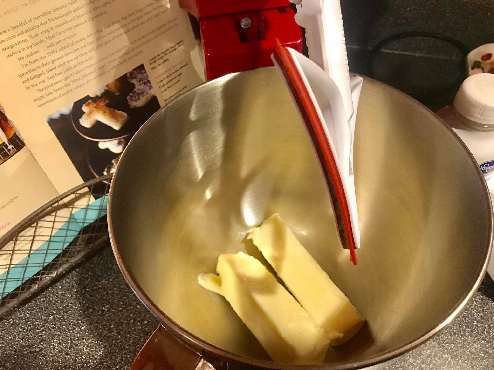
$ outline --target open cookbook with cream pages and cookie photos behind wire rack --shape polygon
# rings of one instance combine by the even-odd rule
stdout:
[[[0,237],[59,194],[112,173],[139,127],[204,81],[178,0],[3,0],[0,56]],[[64,204],[51,221],[77,221],[81,208]],[[0,282],[25,258],[0,250]]]

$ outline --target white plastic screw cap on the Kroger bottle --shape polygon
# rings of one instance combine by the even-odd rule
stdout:
[[[471,121],[494,125],[494,74],[468,76],[454,97],[453,107]]]

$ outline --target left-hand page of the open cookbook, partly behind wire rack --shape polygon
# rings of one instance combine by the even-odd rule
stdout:
[[[0,237],[58,195],[58,191],[25,146],[8,113],[0,104]],[[32,228],[28,228],[18,235],[15,248],[12,242],[0,249],[0,298],[15,289],[20,284],[19,278],[22,280],[22,275],[28,272],[26,263],[21,261],[26,260],[48,239],[42,235],[49,234],[48,227],[53,224],[50,221],[63,224],[70,217],[71,213],[64,204],[58,207],[57,214],[47,213],[40,218],[36,225],[39,238],[33,240],[32,237],[27,237],[34,233]],[[79,225],[79,222],[75,224]],[[10,268],[12,266],[17,270],[15,267]],[[34,273],[40,268],[38,265]]]

